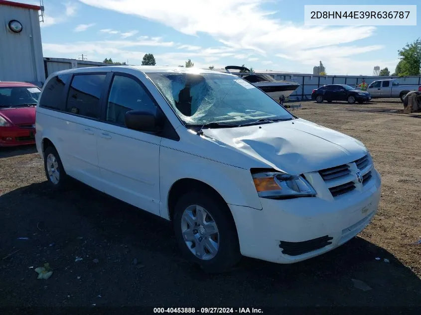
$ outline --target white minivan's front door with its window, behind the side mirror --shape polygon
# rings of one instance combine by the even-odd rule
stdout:
[[[104,192],[159,215],[159,145],[161,137],[125,125],[129,110],[156,112],[157,105],[141,81],[114,74],[98,136]]]

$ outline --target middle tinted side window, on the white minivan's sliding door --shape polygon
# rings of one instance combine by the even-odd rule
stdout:
[[[70,85],[66,111],[99,119],[105,77],[105,74],[75,75]]]

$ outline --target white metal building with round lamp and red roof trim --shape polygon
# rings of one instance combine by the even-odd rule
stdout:
[[[0,0],[0,81],[45,81],[40,10],[38,5]]]

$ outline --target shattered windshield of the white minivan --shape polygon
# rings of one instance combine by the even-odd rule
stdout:
[[[186,124],[243,124],[261,118],[293,118],[260,89],[236,76],[213,73],[147,76]]]

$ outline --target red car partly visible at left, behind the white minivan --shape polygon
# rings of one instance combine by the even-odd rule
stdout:
[[[0,147],[35,143],[35,105],[41,90],[0,81]]]

